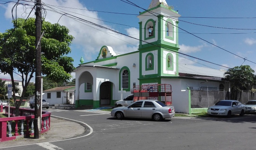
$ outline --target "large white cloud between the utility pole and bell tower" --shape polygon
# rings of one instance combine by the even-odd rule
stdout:
[[[58,11],[58,12],[62,11],[61,12],[62,14],[69,13],[73,16],[77,16],[79,18],[90,21],[97,25],[117,31],[113,29],[111,26],[106,25],[104,21],[101,21],[101,18],[98,16],[97,12],[85,11],[87,10],[86,6],[83,6],[79,2],[79,0],[72,0],[72,1],[44,0],[44,3],[47,6],[50,6],[50,5],[62,6],[61,9],[58,9],[54,6],[50,6],[54,9],[54,11]],[[33,3],[30,3],[30,4],[33,5]],[[122,52],[127,53],[127,52],[132,52],[138,49],[139,40],[135,40],[135,39],[132,39],[131,37],[120,35],[115,32],[109,31],[107,29],[103,29],[82,21],[79,21],[79,22],[75,21],[68,17],[68,16],[71,17],[71,15],[62,16],[62,14],[53,12],[53,10],[47,6],[44,6],[44,8],[47,9],[46,10],[47,15],[45,17],[45,20],[51,22],[52,24],[57,23],[59,20],[58,23],[60,25],[68,27],[68,29],[70,30],[70,34],[75,37],[75,39],[72,42],[72,46],[74,47],[74,49],[72,49],[72,52],[70,54],[71,57],[72,56],[78,57],[77,55],[81,55],[84,58],[85,62],[95,60],[96,59],[94,58],[95,55],[99,53],[100,48],[103,45],[108,45],[113,47],[114,51],[117,53],[122,53]],[[10,13],[12,7],[13,7],[13,4],[9,4],[8,7],[6,8],[6,12],[5,12],[6,18],[12,17]],[[76,9],[69,9],[67,7],[76,8]],[[27,13],[29,13],[29,11],[30,10],[27,9]],[[19,16],[17,17],[24,17],[24,18],[27,17],[25,16],[22,5],[18,5],[17,14],[19,14]],[[31,14],[34,14],[34,13],[31,13]],[[125,31],[127,33],[124,33],[124,34],[128,34],[128,35],[131,35],[132,37],[139,39],[138,29],[127,28],[125,29]],[[134,45],[136,45],[137,47]],[[77,60],[75,60],[75,62],[77,62]]]

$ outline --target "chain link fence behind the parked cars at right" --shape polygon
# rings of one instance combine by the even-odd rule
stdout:
[[[191,90],[191,108],[208,108],[220,100],[230,100],[230,92],[218,91],[216,89]],[[237,100],[242,104],[250,100],[256,100],[256,93],[242,91],[237,93]]]

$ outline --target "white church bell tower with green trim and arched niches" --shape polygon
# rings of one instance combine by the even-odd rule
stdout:
[[[152,78],[178,76],[180,16],[165,0],[152,0],[148,10],[140,12],[138,18],[141,84]]]

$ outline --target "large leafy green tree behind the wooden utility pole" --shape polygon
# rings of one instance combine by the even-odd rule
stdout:
[[[12,87],[15,87],[14,73],[22,78],[23,92],[20,101],[16,101],[13,95],[18,113],[17,110],[35,72],[35,19],[18,18],[13,24],[14,29],[0,33],[0,70],[11,76]],[[41,51],[44,53],[41,56],[42,75],[54,81],[71,79],[70,73],[75,69],[72,63],[74,60],[66,55],[71,52],[69,46],[74,37],[68,34],[67,27],[46,21],[42,21],[42,31],[44,31],[41,39]]]

